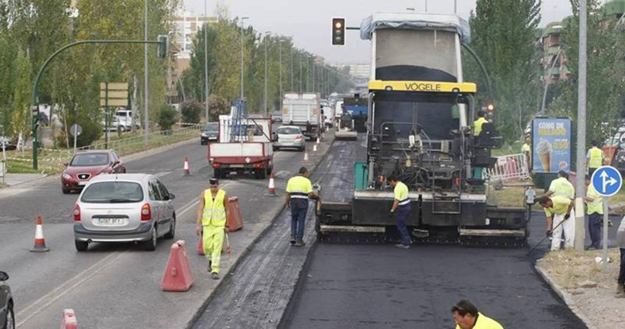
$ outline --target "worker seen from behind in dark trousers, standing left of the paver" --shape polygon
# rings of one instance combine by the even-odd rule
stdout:
[[[308,212],[308,198],[317,198],[312,191],[306,167],[299,168],[299,175],[291,177],[286,184],[286,206],[291,208],[291,245],[305,246],[304,226]]]

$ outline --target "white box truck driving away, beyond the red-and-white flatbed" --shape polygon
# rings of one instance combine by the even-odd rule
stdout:
[[[282,99],[282,124],[299,126],[302,134],[317,139],[323,130],[319,93],[285,93]]]

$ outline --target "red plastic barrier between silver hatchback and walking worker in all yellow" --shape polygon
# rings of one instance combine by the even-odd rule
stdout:
[[[178,240],[171,245],[163,274],[163,291],[187,291],[192,283],[193,275],[187,258],[186,243]]]

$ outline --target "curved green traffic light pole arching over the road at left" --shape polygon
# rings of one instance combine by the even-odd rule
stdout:
[[[167,41],[165,41],[167,43]],[[58,54],[63,53],[65,49],[72,48],[73,46],[78,46],[79,44],[88,44],[88,43],[125,43],[125,44],[163,44],[163,41],[151,41],[151,40],[83,40],[76,41],[75,43],[66,44],[65,46],[59,48],[53,54],[50,55],[49,58],[43,63],[37,76],[35,77],[34,82],[32,83],[32,169],[37,170],[37,149],[39,148],[39,142],[37,141],[37,128],[39,126],[39,79],[47,68],[48,64],[56,57]],[[164,44],[165,49],[167,44]]]

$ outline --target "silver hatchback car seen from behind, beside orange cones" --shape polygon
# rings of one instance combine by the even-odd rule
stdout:
[[[76,250],[91,242],[143,243],[156,250],[156,240],[176,233],[176,196],[154,175],[101,175],[89,182],[74,206]]]

